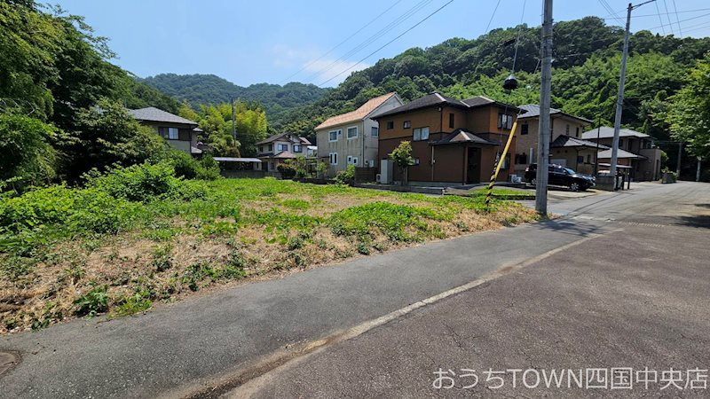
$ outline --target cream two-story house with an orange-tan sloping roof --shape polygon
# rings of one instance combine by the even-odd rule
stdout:
[[[328,118],[316,127],[318,158],[328,164],[327,176],[348,165],[375,168],[380,126],[375,116],[401,106],[397,93],[372,98],[355,111]]]

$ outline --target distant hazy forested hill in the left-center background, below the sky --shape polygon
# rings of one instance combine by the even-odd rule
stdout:
[[[186,99],[192,106],[224,103],[229,98],[256,101],[264,106],[272,123],[279,123],[289,110],[312,104],[327,92],[314,84],[299,82],[284,86],[258,83],[241,87],[214,74],[157,74],[141,82],[177,100]]]

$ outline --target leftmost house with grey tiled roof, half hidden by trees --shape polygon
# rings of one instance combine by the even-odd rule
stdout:
[[[141,124],[155,129],[155,133],[164,138],[173,148],[193,156],[202,153],[197,141],[202,130],[197,127],[196,121],[190,121],[154,106],[132,109],[128,112]]]

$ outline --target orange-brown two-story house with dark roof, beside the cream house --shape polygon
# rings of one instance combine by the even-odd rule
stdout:
[[[375,116],[380,124],[379,160],[402,141],[412,143],[414,184],[487,182],[520,110],[491,98],[459,100],[438,92]],[[509,154],[515,153],[515,139]],[[510,155],[499,180],[508,180]],[[395,170],[395,178],[400,171]]]

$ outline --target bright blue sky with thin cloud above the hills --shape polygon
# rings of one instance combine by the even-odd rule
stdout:
[[[331,78],[325,86],[332,86],[350,74],[340,74],[348,68],[373,65],[377,59],[395,56],[410,47],[485,33],[497,3],[454,0],[382,51],[360,61],[449,0],[54,1],[69,13],[83,15],[97,35],[109,37],[111,49],[118,54],[114,63],[138,76],[217,74],[242,86],[290,81],[319,84]],[[622,25],[627,0],[605,0],[620,20],[612,19],[603,3],[556,0],[554,18],[573,20],[596,15],[608,18],[609,24]],[[491,28],[515,26],[521,16],[530,26],[540,25],[541,4],[541,0],[501,0]],[[408,19],[355,51],[407,12]],[[632,20],[632,31],[710,35],[710,4],[706,0],[658,0],[643,5],[634,15],[638,17]],[[357,35],[324,55],[362,27]]]

